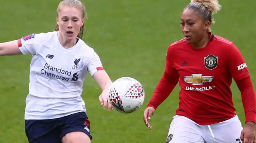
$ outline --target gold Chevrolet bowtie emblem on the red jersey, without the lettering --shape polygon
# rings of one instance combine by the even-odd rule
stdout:
[[[204,82],[212,82],[214,76],[202,76],[202,74],[192,74],[192,76],[184,76],[184,81],[192,83],[192,85],[203,85]]]

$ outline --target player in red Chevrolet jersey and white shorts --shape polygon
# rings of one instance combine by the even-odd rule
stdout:
[[[210,30],[218,0],[192,0],[184,8],[180,26],[184,39],[170,44],[166,69],[144,111],[144,122],[179,82],[179,107],[166,143],[256,143],[255,93],[245,60],[236,46]],[[234,78],[244,105],[241,125],[232,102]]]

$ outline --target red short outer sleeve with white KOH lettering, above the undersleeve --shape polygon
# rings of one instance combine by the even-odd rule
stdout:
[[[228,53],[228,66],[235,81],[250,76],[244,57],[234,44],[231,45],[230,52]]]

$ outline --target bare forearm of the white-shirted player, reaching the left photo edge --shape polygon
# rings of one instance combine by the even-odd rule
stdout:
[[[21,55],[18,40],[0,43],[0,56]]]

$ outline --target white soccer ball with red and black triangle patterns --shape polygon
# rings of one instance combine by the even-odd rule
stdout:
[[[134,78],[121,77],[110,86],[108,101],[121,113],[138,110],[145,98],[143,86]]]

